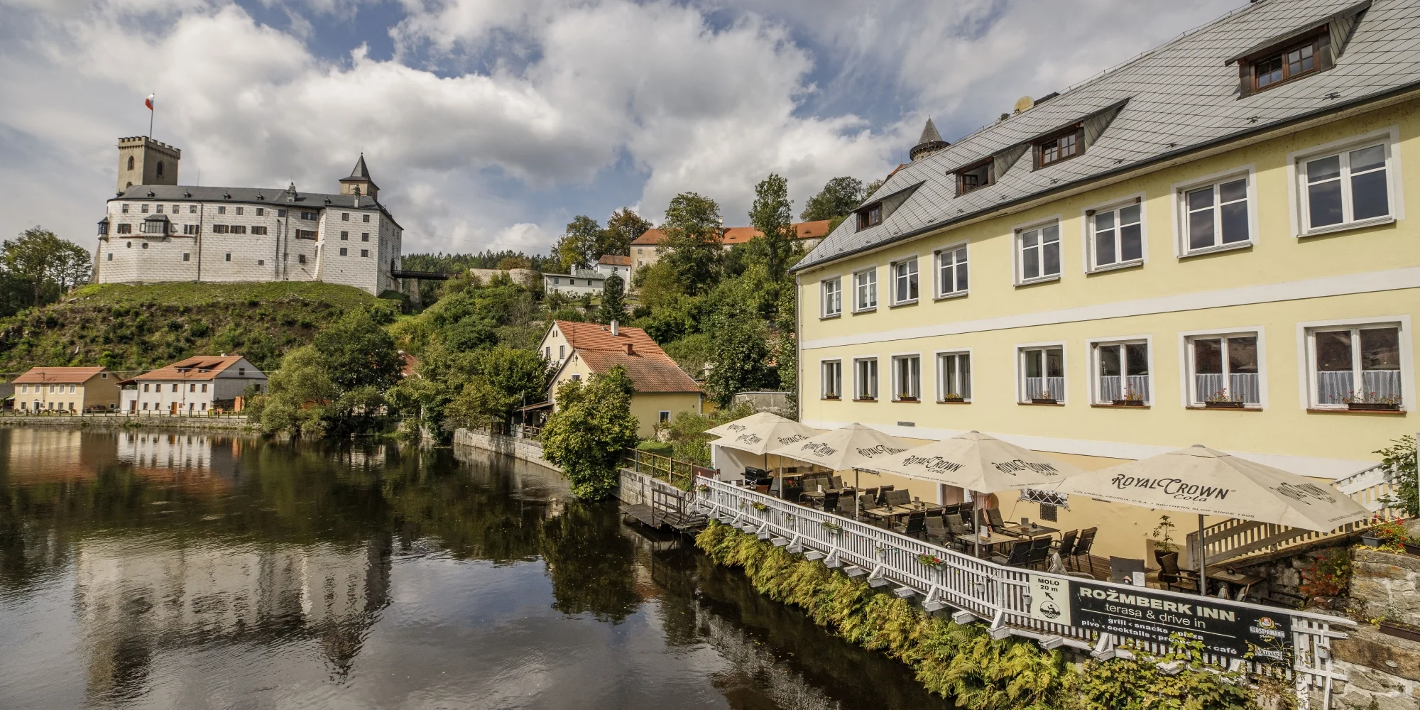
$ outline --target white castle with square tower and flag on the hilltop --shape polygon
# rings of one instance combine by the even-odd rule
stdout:
[[[178,185],[182,151],[118,142],[118,196],[98,223],[94,281],[325,281],[399,290],[402,229],[361,155],[338,195]]]

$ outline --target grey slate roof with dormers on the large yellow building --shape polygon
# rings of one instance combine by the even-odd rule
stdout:
[[[902,166],[876,196],[923,183],[920,189],[882,224],[858,231],[858,220],[843,220],[794,271],[910,239],[1011,202],[1420,87],[1420,3],[1375,0],[1333,68],[1237,98],[1238,67],[1225,64],[1228,60],[1299,28],[1318,27],[1353,7],[1356,0],[1254,3]],[[956,196],[949,170],[1044,138],[1119,102],[1126,104],[1083,155],[1032,172],[1027,153],[998,175],[995,185]]]

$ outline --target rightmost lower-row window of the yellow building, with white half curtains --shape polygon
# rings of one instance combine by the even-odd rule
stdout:
[[[1306,331],[1311,406],[1403,409],[1400,324],[1315,327]]]

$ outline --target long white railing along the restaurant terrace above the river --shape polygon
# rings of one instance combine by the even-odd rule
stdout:
[[[643,452],[645,453],[645,452]],[[728,521],[741,530],[753,530],[763,538],[780,538],[790,551],[814,550],[831,567],[856,565],[869,571],[870,581],[885,579],[923,595],[923,608],[954,606],[971,616],[991,622],[993,633],[1032,638],[1042,645],[1069,645],[1081,649],[1130,646],[1156,656],[1170,649],[1163,645],[1126,640],[1102,635],[1092,629],[1042,622],[1030,615],[1031,575],[1068,579],[1065,575],[1035,572],[998,565],[954,550],[924,542],[889,530],[868,525],[843,515],[797,506],[754,490],[741,488],[706,476],[696,476],[693,501],[709,517]],[[787,541],[787,542],[785,542]],[[941,564],[929,564],[932,558]],[[1135,586],[1092,582],[1133,594]],[[1150,594],[1176,596],[1191,602],[1197,596],[1150,589]],[[1355,622],[1314,612],[1282,609],[1248,602],[1227,602],[1234,606],[1265,611],[1291,618],[1294,666],[1298,689],[1326,687],[1345,680],[1332,669],[1331,639],[1345,638],[1332,625],[1355,626]],[[1267,667],[1245,659],[1210,656],[1218,665],[1241,665],[1252,673],[1267,673]],[[1329,701],[1329,696],[1326,696]],[[1322,706],[1322,703],[1314,707]]]

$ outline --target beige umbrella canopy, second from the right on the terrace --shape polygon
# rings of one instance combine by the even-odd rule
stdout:
[[[879,469],[909,479],[944,483],[981,493],[1054,487],[1082,469],[1003,442],[981,432],[967,432],[889,456]]]

